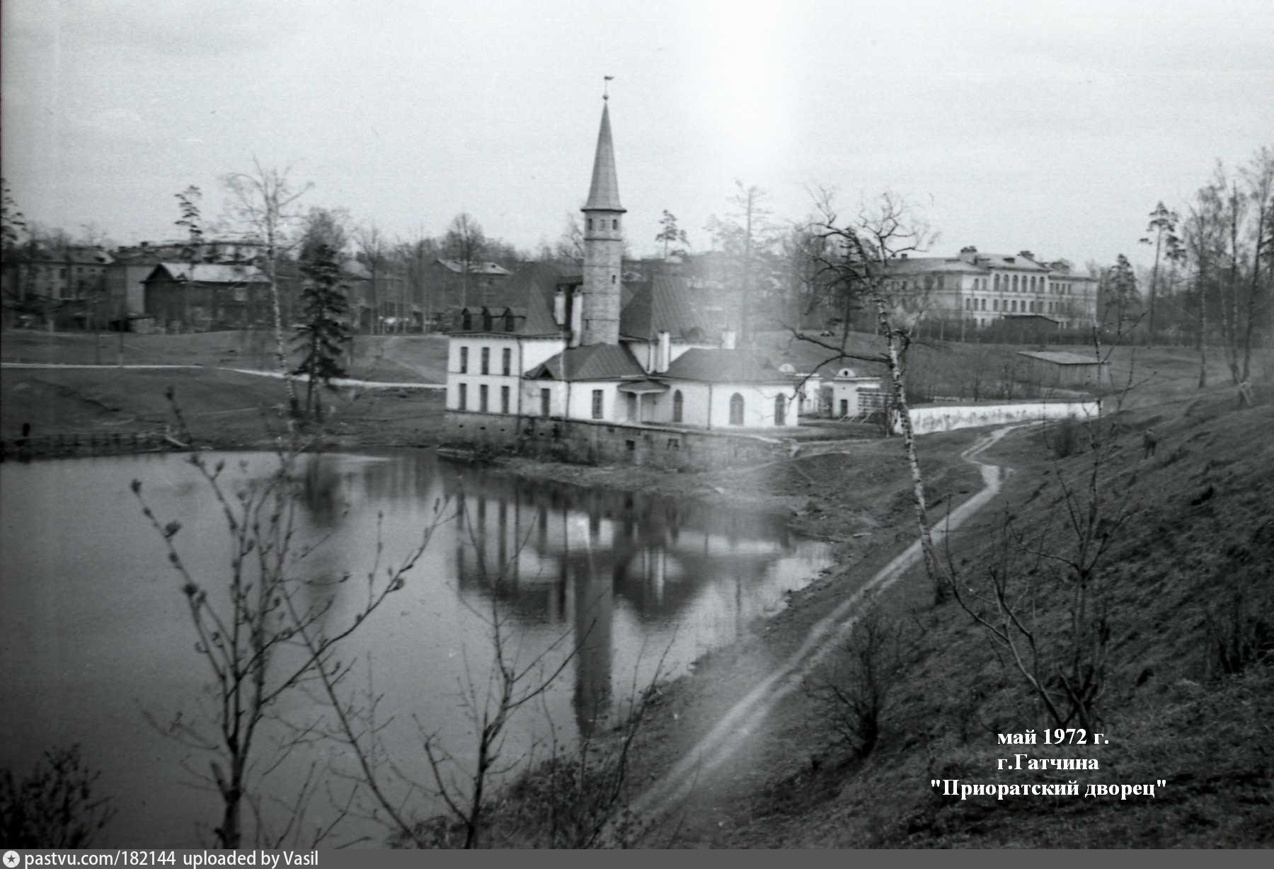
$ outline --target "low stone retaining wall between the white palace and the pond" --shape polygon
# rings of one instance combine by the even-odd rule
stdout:
[[[461,410],[446,413],[441,441],[447,446],[487,447],[554,461],[687,470],[773,461],[786,456],[790,447],[787,441],[757,434]]]

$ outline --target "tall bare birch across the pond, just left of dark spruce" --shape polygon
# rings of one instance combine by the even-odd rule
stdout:
[[[292,167],[266,168],[261,161],[252,158],[251,172],[233,172],[223,177],[222,182],[231,196],[231,209],[248,232],[262,246],[262,261],[265,274],[270,280],[270,305],[274,320],[274,357],[275,366],[283,375],[288,387],[288,405],[294,412],[299,405],[297,400],[297,387],[293,382],[292,368],[288,364],[287,347],[283,338],[283,310],[279,302],[279,260],[287,255],[294,243],[292,237],[293,224],[299,219],[297,201],[304,196],[313,186],[310,182],[296,183],[289,177]],[[252,306],[251,319],[256,320],[255,297],[250,302]]]

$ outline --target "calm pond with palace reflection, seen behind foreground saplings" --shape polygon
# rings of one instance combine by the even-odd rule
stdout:
[[[278,466],[269,454],[204,456],[224,460],[238,480]],[[341,649],[355,661],[348,689],[382,697],[386,756],[422,782],[422,734],[461,762],[471,757],[462,698],[487,684],[493,617],[519,661],[543,655],[552,670],[566,660],[513,719],[506,757],[524,757],[550,735],[568,747],[613,720],[656,672],[685,673],[781,608],[831,556],[777,516],[527,482],[428,451],[307,455],[296,473],[296,536],[315,547],[302,562],[313,594],[334,595],[329,629],[364,600],[378,545],[383,575],[443,516],[405,587]],[[224,517],[185,456],[0,465],[0,766],[25,775],[41,752],[79,743],[117,810],[98,844],[210,844],[219,800],[201,781],[209,756],[175,736],[208,729],[213,686],[178,577],[130,492],[134,479],[161,522],[181,522],[175,542],[191,573],[225,586]],[[336,581],[347,573],[354,578]],[[303,724],[322,711],[293,692],[271,714]],[[271,798],[264,822],[276,830],[307,776],[341,784],[352,766],[340,745],[318,740],[273,767],[287,731],[271,725],[266,734],[257,772]],[[441,807],[418,798],[413,809]],[[324,793],[306,823],[334,812]],[[329,844],[381,837],[375,823],[347,818]]]

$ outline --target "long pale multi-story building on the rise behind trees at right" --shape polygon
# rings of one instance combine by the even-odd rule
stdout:
[[[1056,329],[1087,329],[1097,322],[1097,280],[1069,262],[1045,262],[1031,251],[1015,256],[978,254],[902,256],[891,268],[899,291],[927,296],[926,316],[963,320],[986,327],[1017,317],[1051,320]]]

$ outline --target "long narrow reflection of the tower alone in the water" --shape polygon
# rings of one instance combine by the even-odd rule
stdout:
[[[575,719],[583,736],[591,735],[610,707],[612,619],[614,585],[612,566],[619,559],[606,557],[596,503],[590,505],[587,531],[572,522],[563,511],[566,575],[575,604]],[[578,556],[582,556],[578,557]]]

